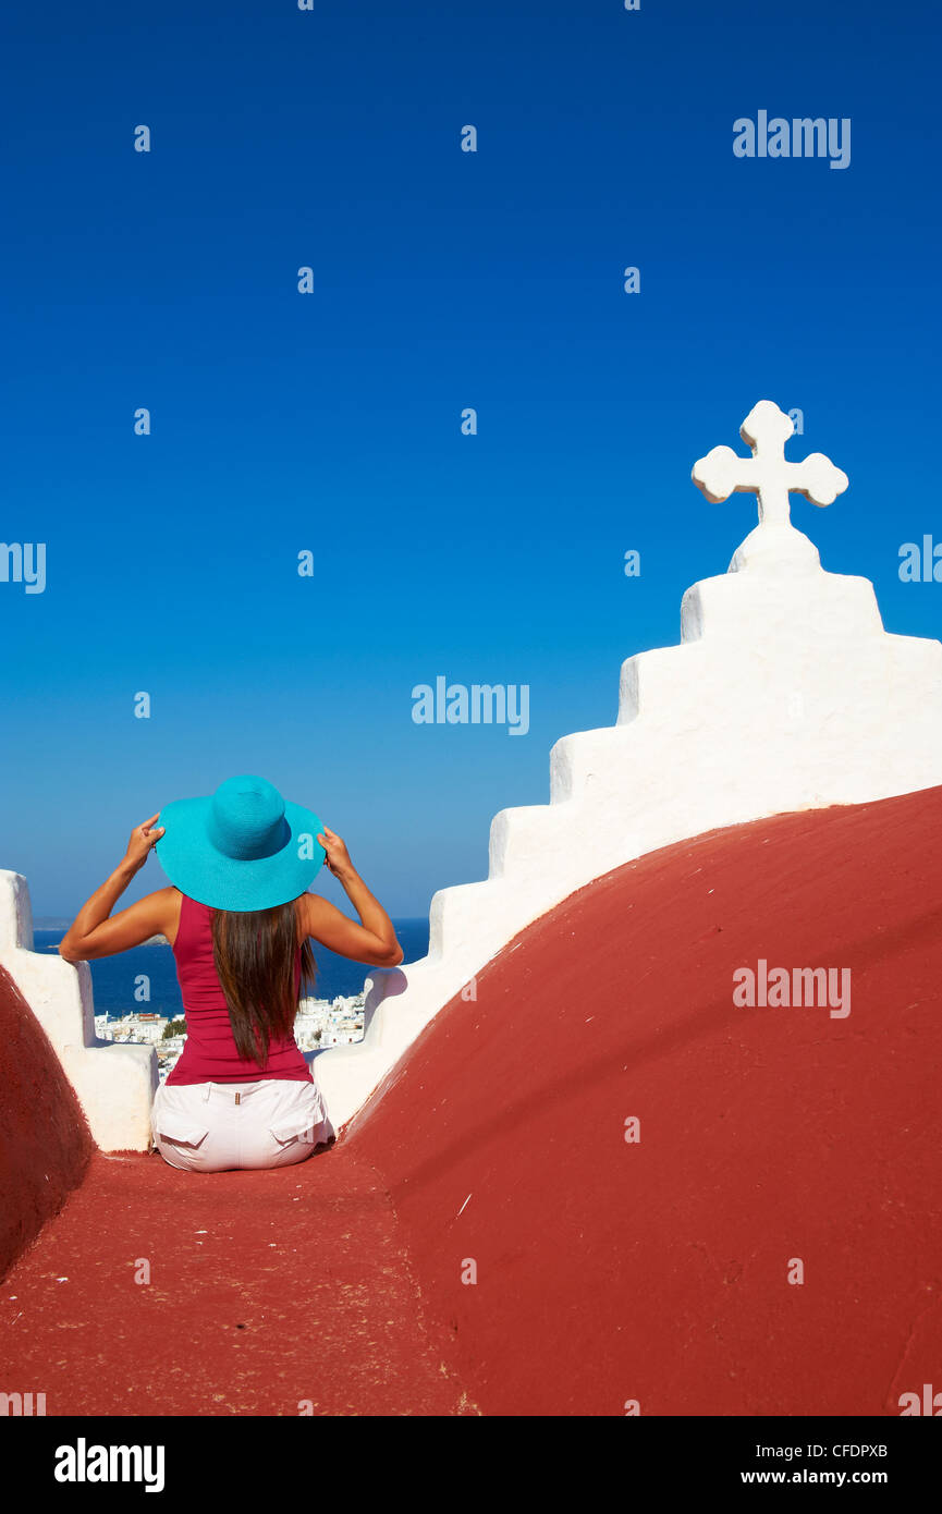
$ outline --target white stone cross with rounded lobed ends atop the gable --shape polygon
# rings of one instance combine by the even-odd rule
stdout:
[[[850,481],[824,453],[810,453],[801,463],[786,462],[784,444],[794,430],[791,416],[772,400],[760,400],[739,427],[753,456],[741,457],[731,447],[713,447],[694,463],[691,477],[713,504],[731,494],[759,495],[759,524],[789,527],[789,491],[825,506],[833,504]]]

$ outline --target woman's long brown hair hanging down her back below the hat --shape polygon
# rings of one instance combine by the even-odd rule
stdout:
[[[315,961],[310,942],[301,945],[301,977],[295,989],[298,952],[295,899],[273,910],[214,910],[212,955],[229,1005],[229,1020],[239,1057],[268,1061],[273,1037],[292,1034],[294,1017],[313,987]]]

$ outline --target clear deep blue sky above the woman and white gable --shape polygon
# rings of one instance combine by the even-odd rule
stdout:
[[[394,914],[485,877],[492,815],[548,799],[754,524],[689,474],[759,398],[850,475],[794,497],[824,565],[939,634],[942,584],[898,580],[942,540],[927,0],[53,0],[5,33],[0,537],[47,587],[0,583],[0,866],[36,914],[238,772]],[[850,167],[735,157],[760,109],[850,118]],[[529,684],[529,734],[413,724],[438,674]]]

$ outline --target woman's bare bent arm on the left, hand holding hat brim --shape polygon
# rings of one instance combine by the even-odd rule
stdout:
[[[158,812],[159,813],[159,812]],[[111,878],[86,899],[76,919],[59,942],[59,955],[67,961],[92,961],[95,957],[112,957],[115,952],[139,946],[150,936],[168,936],[176,930],[179,893],[176,889],[158,889],[138,899],[111,919],[111,911],[124,893],[127,884],[144,866],[151,846],[161,840],[164,827],[150,830],[156,821],[151,815],[144,825],[135,827],[127,851]]]

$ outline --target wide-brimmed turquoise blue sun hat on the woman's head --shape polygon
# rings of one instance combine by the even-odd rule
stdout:
[[[174,799],[158,816],[154,845],[170,881],[214,910],[271,910],[306,893],[327,855],[313,810],[289,804],[253,774],[227,778],[204,799]]]

